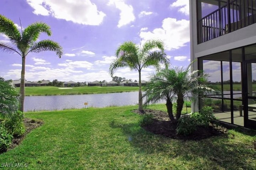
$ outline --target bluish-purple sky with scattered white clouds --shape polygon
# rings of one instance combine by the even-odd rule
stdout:
[[[126,41],[140,44],[148,39],[164,42],[171,66],[190,64],[190,26],[188,0],[1,0],[0,14],[14,21],[21,30],[34,22],[51,27],[49,37],[63,47],[58,58],[54,52],[29,53],[25,79],[62,82],[107,82],[116,58],[116,49]],[[0,41],[9,39],[0,34]],[[0,76],[20,79],[21,57],[0,51]],[[142,70],[142,80],[155,71]],[[120,68],[113,76],[138,81],[138,72]]]

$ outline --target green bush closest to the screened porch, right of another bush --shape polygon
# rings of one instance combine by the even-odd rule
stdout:
[[[208,127],[209,123],[216,119],[212,107],[205,106],[199,112],[191,114],[191,118],[197,126]]]

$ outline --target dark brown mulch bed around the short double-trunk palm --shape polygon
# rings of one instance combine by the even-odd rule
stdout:
[[[144,113],[141,113],[138,110],[134,110],[133,112],[138,114],[152,113],[154,115],[154,122],[151,125],[144,126],[143,128],[154,134],[162,135],[172,139],[201,140],[212,136],[223,135],[228,131],[225,127],[220,125],[210,124],[208,128],[197,127],[197,130],[191,135],[177,135],[177,123],[172,123],[166,112],[152,109],[144,109]]]

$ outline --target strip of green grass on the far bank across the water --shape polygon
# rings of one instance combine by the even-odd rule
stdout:
[[[55,86],[39,86],[39,87],[26,87],[26,96],[48,96],[48,95],[69,95],[69,94],[101,94],[101,93],[115,93],[115,92],[132,92],[138,91],[139,87],[98,87],[98,86],[84,86],[72,87],[72,89],[59,89]],[[16,88],[20,90],[20,88]]]

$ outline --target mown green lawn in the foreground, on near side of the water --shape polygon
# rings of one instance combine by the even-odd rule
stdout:
[[[43,119],[44,125],[28,134],[21,145],[1,154],[0,166],[22,163],[31,170],[256,169],[255,132],[231,130],[228,136],[200,141],[169,139],[142,129],[138,125],[141,115],[132,113],[136,108],[26,113],[26,117]]]

